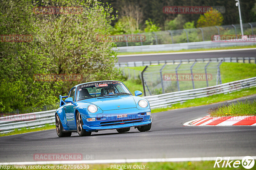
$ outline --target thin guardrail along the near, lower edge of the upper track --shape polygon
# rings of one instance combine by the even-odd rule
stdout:
[[[255,63],[255,57],[225,57],[225,58],[206,58],[206,59],[183,59],[183,60],[159,60],[159,61],[131,61],[131,62],[118,62],[115,67],[138,67],[138,66],[154,66],[164,64],[177,64],[177,63],[192,63],[195,61],[201,62],[236,62],[236,63]]]

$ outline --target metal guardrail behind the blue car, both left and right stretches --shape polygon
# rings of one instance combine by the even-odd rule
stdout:
[[[232,91],[255,86],[256,77],[252,77],[244,80],[232,81],[206,88],[177,91],[155,96],[145,96],[144,98],[148,99],[151,108],[157,108],[166,107],[174,103],[182,103],[189,99],[207,97],[221,93],[229,93]],[[29,115],[33,115],[31,117],[32,120],[26,119],[25,121],[20,121],[19,117],[26,117],[26,115],[28,117]],[[34,127],[52,123],[55,123],[55,110],[0,117],[0,133],[4,133],[5,131],[11,131],[13,129]]]

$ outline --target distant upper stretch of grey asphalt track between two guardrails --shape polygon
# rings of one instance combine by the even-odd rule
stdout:
[[[223,51],[209,53],[180,53],[180,54],[158,54],[158,55],[143,55],[143,56],[125,56],[118,57],[118,62],[130,61],[157,61],[157,60],[181,60],[181,59],[201,59],[201,58],[222,58],[222,57],[256,57],[256,49],[239,50],[239,51]]]

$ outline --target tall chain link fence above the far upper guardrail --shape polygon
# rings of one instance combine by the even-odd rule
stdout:
[[[256,22],[244,23],[243,29],[244,35],[256,34]],[[126,34],[124,34],[124,36],[125,35]],[[192,29],[144,32],[136,35],[140,37],[136,42],[129,41],[129,39],[126,38],[124,42],[115,42],[116,46],[142,46],[211,41],[213,35],[236,35],[236,37],[239,37],[239,35],[241,35],[241,28],[239,24],[232,24]]]

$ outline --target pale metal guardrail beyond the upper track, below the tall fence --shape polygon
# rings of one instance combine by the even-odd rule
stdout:
[[[149,52],[149,51],[171,51],[183,49],[196,49],[196,48],[216,48],[228,46],[249,46],[255,45],[256,42],[212,42],[200,41],[178,44],[160,44],[160,45],[145,45],[145,46],[122,46],[112,48],[116,52]]]

